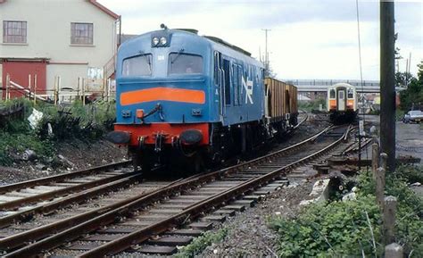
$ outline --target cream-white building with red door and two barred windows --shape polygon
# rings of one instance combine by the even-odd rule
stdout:
[[[76,88],[82,78],[114,72],[120,16],[95,0],[0,0],[0,77],[51,90],[54,78]]]

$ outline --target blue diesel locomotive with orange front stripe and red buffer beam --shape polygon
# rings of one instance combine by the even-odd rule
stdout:
[[[117,121],[109,139],[128,146],[143,171],[154,163],[199,171],[292,126],[284,118],[272,127],[275,120],[266,117],[261,62],[196,32],[164,28],[120,46]]]

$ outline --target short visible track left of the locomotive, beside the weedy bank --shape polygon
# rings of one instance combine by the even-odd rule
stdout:
[[[137,173],[122,169],[130,162],[114,162],[82,171],[33,179],[0,187],[0,228],[37,213],[104,194],[113,187],[135,183]],[[84,196],[81,196],[84,193]]]

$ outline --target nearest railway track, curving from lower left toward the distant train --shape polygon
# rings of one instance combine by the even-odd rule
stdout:
[[[164,185],[156,182],[148,187],[141,183],[137,187],[144,188],[123,190],[118,197],[102,200],[103,206],[79,207],[69,216],[58,213],[45,223],[35,220],[36,224],[27,225],[30,229],[8,232],[0,239],[0,249],[4,257],[102,257],[124,250],[171,254],[175,246],[187,244],[210,227],[210,221],[223,220],[234,210],[253,204],[270,188],[286,184],[287,172],[327,153],[344,140],[350,129],[327,128],[294,146],[224,170]],[[274,182],[268,187],[262,187],[271,181]],[[239,196],[244,199],[236,201]],[[213,213],[203,218],[206,222],[190,224],[204,212]],[[41,226],[37,227],[37,223]],[[170,230],[181,225],[189,229]],[[154,237],[159,234],[164,235]]]

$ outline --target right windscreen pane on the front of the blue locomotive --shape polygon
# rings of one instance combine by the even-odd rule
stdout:
[[[203,57],[196,54],[169,54],[169,74],[203,73]]]

